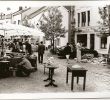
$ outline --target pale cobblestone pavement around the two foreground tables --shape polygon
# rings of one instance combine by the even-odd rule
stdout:
[[[46,52],[44,61],[49,56]],[[9,77],[0,79],[0,93],[56,93],[56,92],[108,92],[110,91],[110,66],[102,66],[101,64],[80,63],[87,71],[86,90],[83,91],[83,78],[80,78],[79,84],[74,83],[74,89],[71,91],[71,74],[69,74],[69,82],[66,84],[66,59],[55,58],[56,66],[54,79],[58,87],[45,87],[48,82],[43,80],[48,76],[48,70],[44,74],[44,67],[38,64],[38,70],[30,75],[30,77]],[[73,59],[71,63],[76,63]]]

